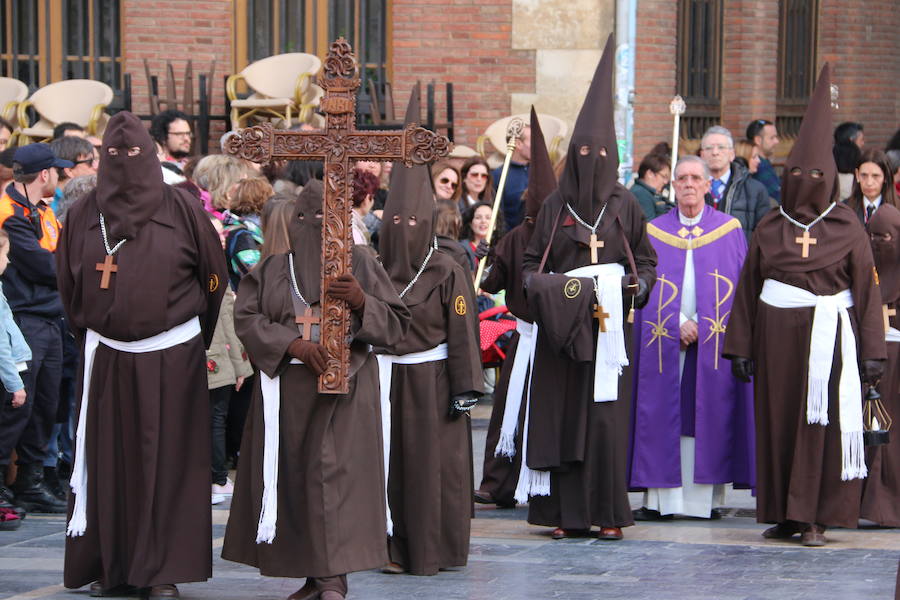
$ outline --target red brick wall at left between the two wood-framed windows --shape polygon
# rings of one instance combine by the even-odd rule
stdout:
[[[179,101],[184,95],[187,60],[193,61],[196,82],[197,75],[208,72],[212,60],[217,59],[211,110],[213,114],[223,113],[224,76],[232,72],[233,63],[232,4],[231,0],[137,0],[122,3],[124,69],[131,73],[135,112],[150,112],[143,62],[146,58],[151,74],[159,79],[161,96],[167,93],[166,61],[172,62]],[[199,97],[195,83],[194,100]],[[221,122],[213,123],[211,138],[217,141],[223,131]],[[217,143],[210,144],[211,151],[217,147]]]

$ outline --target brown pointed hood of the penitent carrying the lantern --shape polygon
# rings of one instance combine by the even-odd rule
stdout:
[[[816,218],[831,204],[837,177],[831,146],[831,68],[825,63],[784,163],[782,206],[800,221]]]

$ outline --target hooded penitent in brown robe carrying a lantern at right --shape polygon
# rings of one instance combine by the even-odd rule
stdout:
[[[831,130],[826,65],[785,164],[781,188],[783,212],[804,225],[829,210],[835,199],[837,168],[831,154]],[[804,258],[799,243],[804,238],[801,227],[781,211],[772,211],[760,221],[735,291],[723,355],[737,358],[733,361],[735,374],[746,359],[755,366],[757,521],[778,524],[767,530],[766,537],[804,532],[811,536],[811,545],[820,545],[824,543],[822,526],[856,527],[859,517],[862,480],[842,479],[846,448],[842,427],[850,423],[839,418],[841,397],[851,398],[856,392],[838,393],[842,369],[839,326],[830,379],[822,384],[828,425],[808,422],[808,410],[816,405],[807,401],[807,377],[818,375],[821,379],[824,375],[810,374],[808,368],[816,309],[780,308],[763,301],[760,294],[765,280],[816,296],[850,290],[853,306],[847,312],[853,323],[856,354],[870,371],[877,369],[877,360],[884,360],[885,343],[872,250],[853,210],[838,202],[808,234],[815,245],[808,246]]]

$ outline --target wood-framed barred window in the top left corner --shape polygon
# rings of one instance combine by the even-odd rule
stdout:
[[[32,90],[63,79],[121,87],[120,0],[0,0],[0,76]]]

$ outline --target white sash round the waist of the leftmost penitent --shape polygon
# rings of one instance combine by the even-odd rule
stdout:
[[[85,464],[85,431],[87,429],[88,398],[91,393],[91,373],[94,369],[94,355],[97,346],[103,344],[118,352],[142,354],[145,352],[157,352],[178,344],[183,344],[200,335],[200,319],[193,319],[177,325],[168,331],[163,331],[154,336],[133,342],[122,342],[103,337],[93,329],[88,329],[84,338],[84,367],[81,390],[81,410],[78,413],[78,429],[75,442],[75,465],[72,469],[72,480],[69,486],[75,494],[75,507],[72,518],[66,528],[66,535],[77,537],[84,535],[87,529],[87,466]]]

